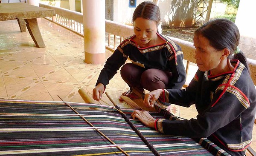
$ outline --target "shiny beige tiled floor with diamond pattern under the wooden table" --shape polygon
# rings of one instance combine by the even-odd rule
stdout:
[[[0,98],[84,102],[78,90],[84,88],[91,93],[103,65],[84,63],[83,37],[43,18],[38,18],[38,23],[46,48],[36,48],[29,33],[20,32],[16,20],[0,21]],[[106,50],[106,58],[110,55]],[[193,68],[196,70],[195,66],[190,70]],[[127,108],[127,104],[118,100],[119,95],[129,89],[119,73],[111,79],[106,92],[117,105]],[[102,99],[111,105],[106,96]],[[197,115],[194,106],[173,105],[172,113],[186,119]],[[253,149],[256,149],[255,125]]]

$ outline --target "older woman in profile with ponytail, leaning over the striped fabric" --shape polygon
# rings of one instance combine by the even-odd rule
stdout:
[[[244,156],[252,141],[256,90],[246,58],[239,50],[235,23],[215,19],[195,31],[198,71],[186,89],[158,89],[145,95],[145,105],[163,102],[189,107],[195,104],[197,119],[154,119],[146,111],[133,118],[162,133],[194,138],[207,137],[232,156]],[[166,104],[167,104],[166,103]]]

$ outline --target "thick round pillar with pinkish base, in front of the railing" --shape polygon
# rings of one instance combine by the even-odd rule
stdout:
[[[85,63],[105,63],[105,0],[83,0]]]

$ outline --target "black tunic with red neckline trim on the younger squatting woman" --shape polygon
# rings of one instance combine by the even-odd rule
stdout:
[[[135,35],[126,38],[108,58],[100,72],[98,83],[108,85],[116,71],[125,64],[129,57],[135,64],[144,65],[145,69],[156,68],[172,72],[172,79],[168,88],[182,88],[186,80],[186,71],[183,65],[183,52],[179,45],[168,37],[158,34],[166,43],[140,48],[133,40]]]

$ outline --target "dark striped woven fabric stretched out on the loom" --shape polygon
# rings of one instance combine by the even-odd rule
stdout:
[[[109,106],[63,102],[0,101],[0,155],[5,156],[154,156],[116,109]],[[96,108],[90,110],[89,108]],[[168,136],[131,118],[162,156],[227,156],[207,139]],[[152,112],[155,118],[162,117]],[[111,141],[95,129],[100,130]]]

